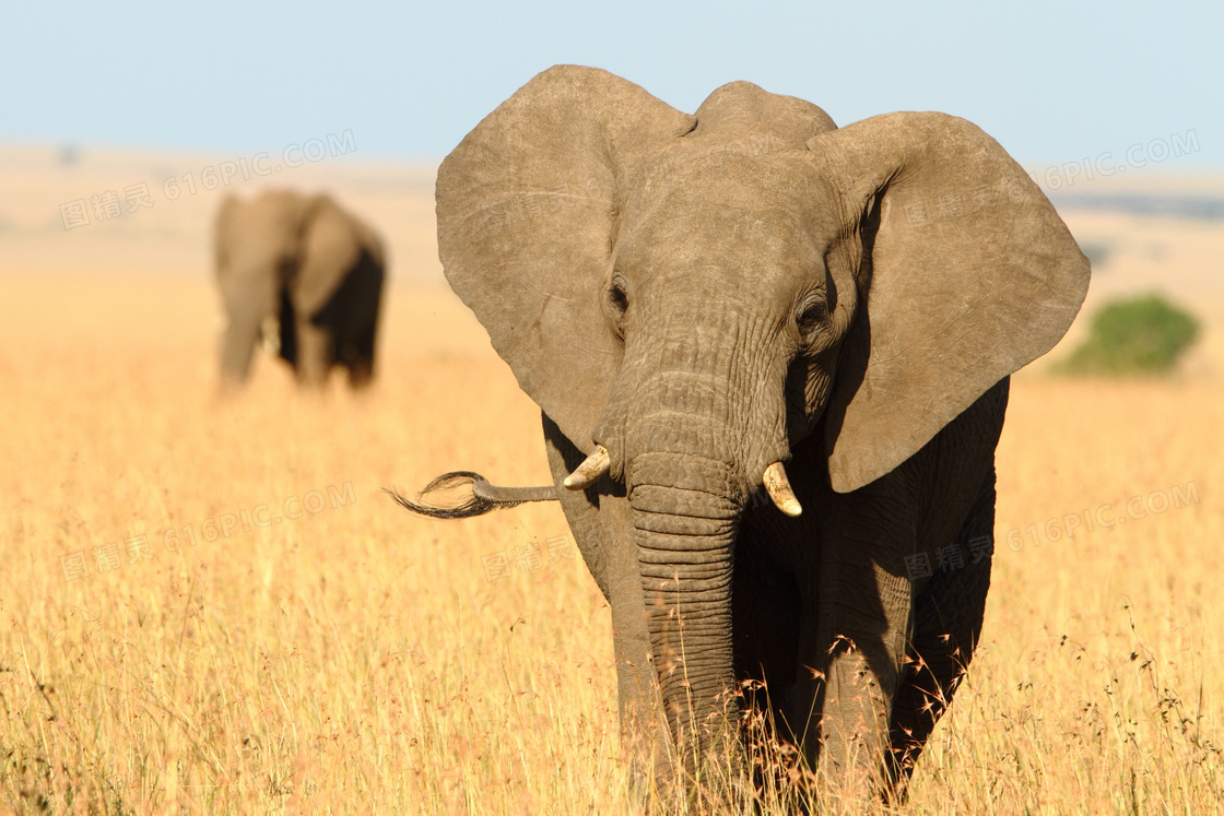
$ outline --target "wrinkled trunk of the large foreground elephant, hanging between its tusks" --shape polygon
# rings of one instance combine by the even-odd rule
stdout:
[[[761,316],[701,296],[668,311],[679,318],[627,345],[597,438],[613,476],[623,467],[662,703],[693,770],[738,739],[734,544],[749,489],[785,455],[785,372],[750,352]]]

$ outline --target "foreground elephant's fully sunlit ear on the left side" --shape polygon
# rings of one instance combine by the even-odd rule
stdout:
[[[618,190],[694,119],[606,71],[540,73],[438,169],[438,254],[519,385],[581,448],[607,401],[619,347],[601,290]]]

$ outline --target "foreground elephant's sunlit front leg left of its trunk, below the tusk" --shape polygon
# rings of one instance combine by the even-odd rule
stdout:
[[[612,609],[621,734],[635,781],[668,778],[673,751],[667,743],[670,729],[650,655],[629,500],[606,476],[588,491],[565,489],[562,481],[585,455],[548,415],[543,415],[543,432],[562,510],[586,568]]]

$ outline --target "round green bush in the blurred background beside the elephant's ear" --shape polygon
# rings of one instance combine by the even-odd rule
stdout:
[[[1108,303],[1088,339],[1058,367],[1067,374],[1168,374],[1198,339],[1198,321],[1159,295]]]

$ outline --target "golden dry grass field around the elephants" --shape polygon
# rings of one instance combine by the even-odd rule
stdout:
[[[0,810],[639,812],[559,510],[382,493],[547,481],[471,316],[395,287],[371,393],[263,358],[219,402],[215,313],[0,278]],[[1220,810],[1222,427],[1219,383],[1013,380],[984,641],[907,812]]]

